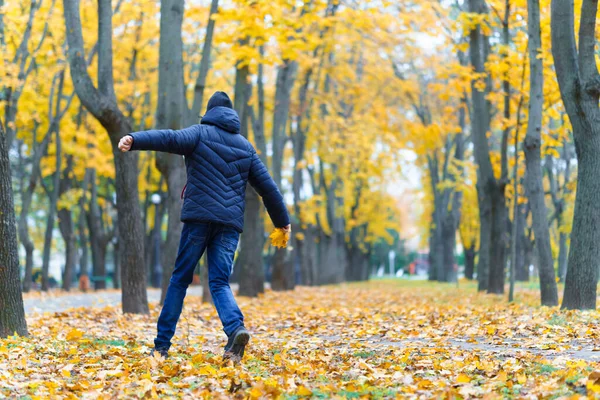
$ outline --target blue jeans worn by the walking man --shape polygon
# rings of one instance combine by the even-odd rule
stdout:
[[[208,286],[223,330],[230,336],[244,325],[244,316],[229,287],[229,276],[233,269],[233,256],[239,236],[235,229],[216,223],[183,225],[175,269],[158,318],[158,335],[154,339],[157,349],[168,350],[171,347],[171,339],[183,308],[183,299],[192,283],[196,265],[205,250],[208,261]]]

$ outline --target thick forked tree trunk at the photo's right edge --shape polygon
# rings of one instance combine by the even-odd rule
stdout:
[[[583,0],[579,46],[572,1],[552,0],[552,54],[573,126],[578,174],[562,308],[595,309],[600,260],[600,74],[596,65],[597,0]]]

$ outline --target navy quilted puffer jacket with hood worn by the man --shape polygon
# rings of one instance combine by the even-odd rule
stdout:
[[[181,220],[216,222],[242,232],[246,183],[263,198],[273,224],[290,223],[283,197],[254,147],[240,135],[231,108],[215,107],[200,125],[180,131],[151,130],[131,135],[131,150],[154,150],[185,156],[187,187]]]

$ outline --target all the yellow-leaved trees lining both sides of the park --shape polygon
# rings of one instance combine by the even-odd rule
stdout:
[[[509,253],[512,277],[528,276],[525,260],[535,253],[542,302],[556,304],[558,247],[563,306],[595,307],[600,91],[592,0],[583,0],[577,17],[578,46],[575,11],[563,0],[553,0],[551,16],[543,0],[527,7],[510,0],[0,6],[0,161],[2,187],[13,188],[0,199],[8,227],[2,256],[9,257],[0,260],[8,266],[0,269],[1,300],[11,305],[2,308],[2,334],[25,332],[13,192],[24,290],[40,242],[48,288],[58,223],[65,289],[78,263],[89,273],[88,258],[101,288],[110,248],[123,311],[148,312],[152,233],[166,232],[168,276],[183,163],[121,154],[116,144],[134,130],[195,123],[205,92],[228,88],[242,133],[290,201],[292,250],[270,250],[275,290],[368,277],[372,247],[399,229],[388,189],[400,176],[400,150],[410,149],[425,172],[432,279],[453,279],[458,233],[467,275],[477,271],[480,290],[504,291]],[[5,173],[9,154],[12,174]],[[163,201],[152,206],[157,193]],[[245,219],[236,269],[240,294],[256,296],[264,290],[270,226],[251,189]]]

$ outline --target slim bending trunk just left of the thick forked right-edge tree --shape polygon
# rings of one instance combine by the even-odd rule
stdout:
[[[528,31],[529,31],[529,68],[530,68],[530,100],[529,123],[525,136],[525,161],[527,166],[526,183],[527,195],[533,217],[533,231],[538,253],[538,271],[540,276],[540,291],[542,305],[555,306],[558,304],[554,260],[550,246],[550,231],[544,198],[542,173],[542,112],[544,106],[544,71],[543,60],[538,54],[542,47],[540,31],[539,0],[528,0]]]

